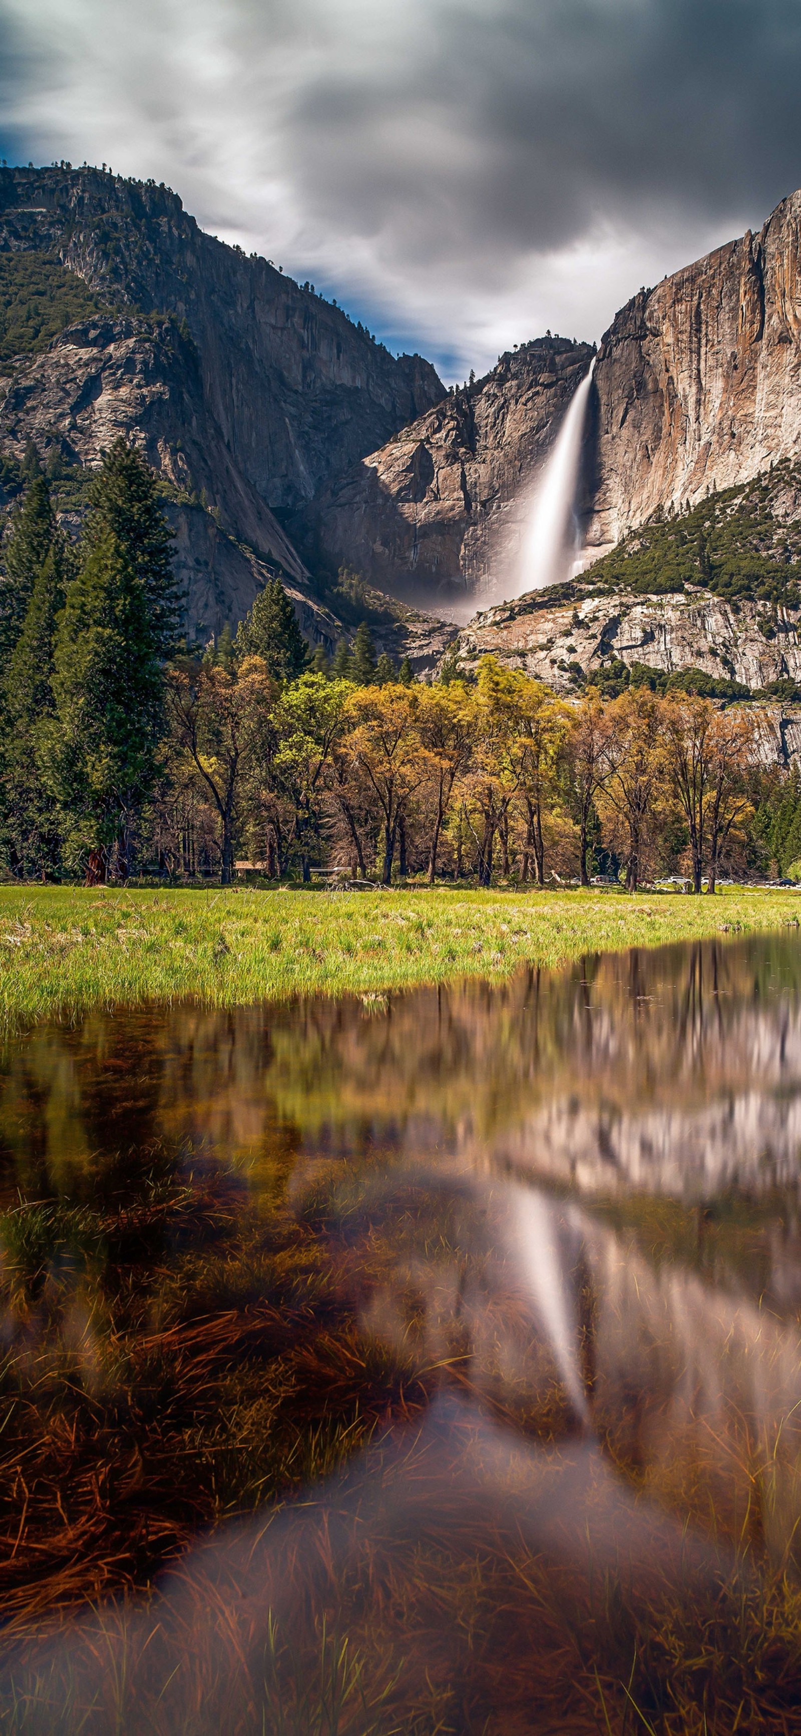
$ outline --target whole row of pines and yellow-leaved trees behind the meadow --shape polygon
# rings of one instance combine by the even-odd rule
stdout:
[[[344,870],[629,891],[787,870],[801,788],[770,715],[679,689],[559,700],[521,670],[447,658],[415,681],[363,623],[330,661],[271,580],[236,635],[181,644],[153,472],[116,441],[80,540],[36,462],[3,543],[0,849],[19,878],[229,884]]]

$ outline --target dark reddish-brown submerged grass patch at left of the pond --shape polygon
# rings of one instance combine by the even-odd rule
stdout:
[[[328,1476],[426,1401],[360,1332],[348,1253],[243,1210],[224,1177],[139,1210],[23,1203],[0,1253],[7,1632],[148,1585],[198,1528]]]

